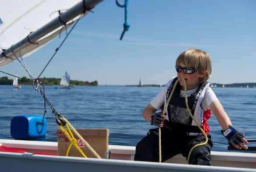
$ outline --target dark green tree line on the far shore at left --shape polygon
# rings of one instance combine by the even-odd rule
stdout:
[[[60,78],[39,78],[39,81],[42,82],[44,85],[54,86],[60,85]],[[12,85],[13,79],[8,79],[7,76],[0,77],[0,85]],[[21,85],[30,85],[33,83],[32,79],[28,79],[27,77],[23,76],[21,79],[18,79],[18,83]],[[98,81],[77,81],[77,80],[70,80],[70,86],[98,86]]]

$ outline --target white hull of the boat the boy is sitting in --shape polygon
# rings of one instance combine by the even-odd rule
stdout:
[[[0,144],[27,152],[57,154],[56,142],[18,141],[0,139]],[[17,172],[70,172],[72,171],[111,171],[111,172],[256,172],[256,155],[252,153],[211,152],[213,166],[186,165],[181,155],[168,160],[168,163],[133,161],[135,147],[109,145],[111,159],[78,158],[52,155],[32,155],[32,153],[0,152],[1,169]],[[15,165],[14,165],[15,164]]]

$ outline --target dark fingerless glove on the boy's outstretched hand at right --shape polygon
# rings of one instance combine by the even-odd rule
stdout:
[[[245,134],[241,131],[237,131],[231,125],[228,126],[229,128],[226,130],[221,130],[221,134],[224,135],[226,139],[228,139],[228,143],[232,144],[235,147],[235,144],[243,142],[241,138],[245,137]]]

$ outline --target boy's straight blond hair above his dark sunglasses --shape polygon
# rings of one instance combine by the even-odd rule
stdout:
[[[204,83],[210,78],[211,60],[207,52],[198,49],[188,49],[182,52],[176,60],[176,65],[182,62],[186,67],[196,68],[196,72],[203,74],[206,70],[207,74],[199,79],[199,83]]]

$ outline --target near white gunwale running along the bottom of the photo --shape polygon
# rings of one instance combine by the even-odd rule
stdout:
[[[117,159],[97,159],[97,158],[81,158],[81,157],[65,157],[54,155],[33,155],[32,153],[12,153],[0,152],[0,158],[25,158],[31,160],[57,161],[57,162],[75,162],[95,165],[114,165],[114,166],[129,166],[155,169],[172,169],[172,170],[189,170],[189,171],[227,171],[227,172],[256,172],[256,169],[237,168],[237,167],[222,167],[222,166],[205,166],[205,165],[184,165],[173,163],[159,162],[141,162],[127,161]]]

